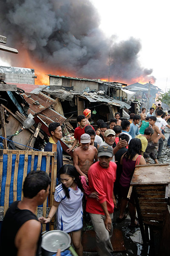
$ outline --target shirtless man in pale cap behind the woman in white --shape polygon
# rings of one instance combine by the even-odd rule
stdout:
[[[94,159],[97,161],[97,149],[90,145],[91,137],[89,134],[82,134],[80,143],[82,143],[82,145],[75,148],[73,152],[74,166],[76,167],[77,172],[79,172],[80,175],[85,176],[85,179],[88,182],[88,169],[94,163]]]

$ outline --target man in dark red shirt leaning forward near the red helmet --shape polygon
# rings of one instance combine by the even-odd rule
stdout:
[[[72,147],[66,150],[67,152],[70,152],[77,145],[78,141],[80,143],[80,137],[82,136],[82,134],[85,134],[85,127],[87,125],[85,116],[83,115],[77,116],[77,122],[79,124],[79,127],[77,127],[74,131],[75,140]],[[91,126],[91,128],[94,129],[93,126]]]

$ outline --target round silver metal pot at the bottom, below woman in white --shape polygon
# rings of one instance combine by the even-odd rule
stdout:
[[[58,249],[65,251],[70,247],[71,237],[61,230],[51,230],[42,236],[42,256],[52,256]]]

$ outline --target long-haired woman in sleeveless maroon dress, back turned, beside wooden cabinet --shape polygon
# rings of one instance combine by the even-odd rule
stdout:
[[[131,195],[130,200],[127,199],[127,194],[130,188],[130,181],[135,170],[135,166],[146,164],[144,157],[141,155],[142,143],[141,140],[134,138],[130,140],[128,150],[122,155],[120,164],[122,164],[122,174],[119,180],[120,191],[122,194],[122,201],[120,205],[120,214],[117,222],[121,222],[126,218],[124,211],[129,202],[129,214],[130,214],[130,227],[136,227],[138,224],[135,220],[136,207],[133,195]]]

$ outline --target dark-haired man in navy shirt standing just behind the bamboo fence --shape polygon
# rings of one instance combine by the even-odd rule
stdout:
[[[49,134],[51,134],[51,137],[49,139],[49,142],[44,148],[44,151],[51,151],[52,152],[52,146],[53,144],[57,144],[57,181],[59,180],[59,169],[63,165],[62,161],[62,146],[59,142],[59,139],[62,138],[62,129],[59,122],[52,122],[48,126]],[[58,184],[58,182],[57,182]]]

